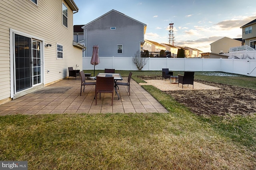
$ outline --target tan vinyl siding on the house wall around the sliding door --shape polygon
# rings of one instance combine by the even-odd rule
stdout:
[[[62,25],[62,2],[68,7],[68,28]],[[44,84],[67,77],[68,67],[82,69],[82,49],[73,46],[73,11],[64,0],[38,0],[38,6],[30,0],[0,0],[0,101],[10,97],[10,29],[52,45],[41,47]],[[56,43],[63,45],[63,59],[56,58]]]

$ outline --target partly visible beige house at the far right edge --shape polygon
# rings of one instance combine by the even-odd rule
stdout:
[[[248,22],[240,28],[242,28],[242,40],[244,40],[244,45],[248,45],[256,49],[256,19]]]

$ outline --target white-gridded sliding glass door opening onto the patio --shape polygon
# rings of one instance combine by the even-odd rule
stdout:
[[[14,89],[15,92],[28,89],[42,82],[41,43],[25,36],[15,34],[14,51]]]

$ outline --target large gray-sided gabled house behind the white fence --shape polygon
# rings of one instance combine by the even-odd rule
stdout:
[[[132,57],[142,50],[146,24],[111,10],[82,29],[84,40],[79,42],[87,47],[86,57],[92,56],[93,45],[99,45],[99,57]]]

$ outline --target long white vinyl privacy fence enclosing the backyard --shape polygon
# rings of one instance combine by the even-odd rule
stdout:
[[[91,57],[83,57],[83,70],[92,70]],[[138,70],[132,57],[100,57],[96,70]],[[222,71],[256,77],[256,59],[149,58],[143,71]]]

